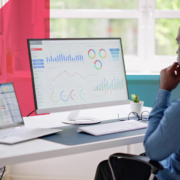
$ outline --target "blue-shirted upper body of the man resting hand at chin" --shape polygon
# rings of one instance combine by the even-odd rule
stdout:
[[[180,50],[180,28],[176,38]],[[180,67],[177,62],[163,69],[155,105],[150,113],[149,125],[144,139],[146,155],[164,166],[158,180],[180,179],[180,99],[169,105],[171,91],[180,82]]]

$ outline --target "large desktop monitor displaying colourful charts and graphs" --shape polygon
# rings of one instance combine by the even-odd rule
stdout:
[[[121,38],[28,39],[28,50],[37,114],[73,111],[71,123],[77,110],[129,103]]]

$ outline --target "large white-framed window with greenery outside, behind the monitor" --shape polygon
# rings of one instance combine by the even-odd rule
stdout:
[[[179,0],[50,0],[50,37],[121,37],[127,74],[176,61]]]

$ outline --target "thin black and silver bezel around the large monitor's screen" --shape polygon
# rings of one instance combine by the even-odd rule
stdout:
[[[91,103],[91,104],[83,104],[83,105],[73,105],[73,106],[65,106],[65,107],[54,107],[54,108],[47,108],[47,109],[38,109],[37,99],[36,99],[35,82],[34,82],[34,74],[33,74],[33,64],[32,64],[31,51],[30,51],[30,41],[52,41],[52,40],[119,40],[120,41],[120,48],[121,48],[121,52],[122,52],[124,73],[126,74],[125,63],[124,63],[124,53],[123,53],[123,48],[122,48],[122,41],[121,41],[121,38],[119,38],[119,37],[118,38],[45,38],[45,39],[39,38],[39,39],[27,39],[36,114],[64,112],[64,111],[73,111],[73,110],[83,110],[83,109],[93,109],[93,108],[108,107],[108,106],[118,106],[118,105],[124,105],[124,104],[130,103],[127,78],[125,75],[125,83],[126,83],[126,87],[127,87],[127,96],[128,96],[127,100],[111,101],[111,102],[103,102],[103,103]]]

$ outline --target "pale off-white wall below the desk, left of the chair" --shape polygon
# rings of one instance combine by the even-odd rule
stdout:
[[[110,154],[116,152],[130,152],[140,154],[144,152],[142,143],[111,148],[100,151],[76,154],[71,156],[45,159],[9,166],[10,180],[92,180],[96,167]]]

